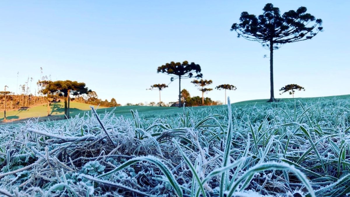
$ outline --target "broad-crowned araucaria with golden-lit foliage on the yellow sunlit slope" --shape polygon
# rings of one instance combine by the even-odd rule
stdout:
[[[59,95],[64,97],[64,114],[69,118],[69,95],[87,94],[89,91],[85,87],[85,83],[76,81],[39,81],[44,88],[41,90],[43,94]]]

